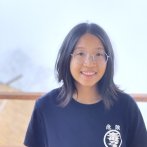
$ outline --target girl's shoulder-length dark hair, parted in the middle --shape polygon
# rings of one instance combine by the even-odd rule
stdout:
[[[95,23],[80,23],[76,25],[67,34],[61,45],[55,65],[58,82],[62,82],[61,91],[58,95],[59,105],[62,107],[66,106],[72,99],[73,93],[77,91],[70,72],[71,54],[78,40],[86,33],[98,37],[104,46],[106,54],[109,56],[106,71],[102,79],[98,82],[97,89],[105,107],[110,108],[117,97],[117,92],[120,91],[113,81],[114,52],[107,33]]]

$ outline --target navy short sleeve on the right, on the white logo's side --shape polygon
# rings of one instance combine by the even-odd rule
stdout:
[[[147,131],[145,123],[136,102],[132,99],[128,105],[128,146],[147,147]]]

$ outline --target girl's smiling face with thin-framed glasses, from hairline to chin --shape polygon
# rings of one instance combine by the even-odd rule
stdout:
[[[76,87],[95,87],[105,73],[108,59],[100,39],[84,34],[71,56],[70,72]]]

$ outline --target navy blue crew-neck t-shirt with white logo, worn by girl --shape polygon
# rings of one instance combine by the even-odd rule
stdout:
[[[135,101],[119,93],[109,109],[103,101],[62,108],[59,89],[36,101],[24,144],[28,147],[147,147],[147,131]]]

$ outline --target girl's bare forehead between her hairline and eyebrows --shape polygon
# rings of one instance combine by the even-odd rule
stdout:
[[[97,36],[86,33],[78,40],[75,49],[104,50],[104,46]]]

